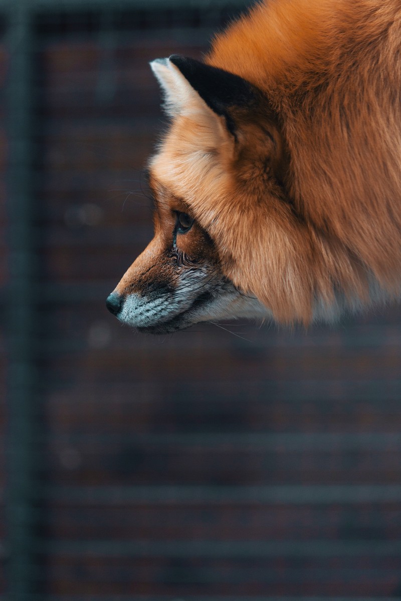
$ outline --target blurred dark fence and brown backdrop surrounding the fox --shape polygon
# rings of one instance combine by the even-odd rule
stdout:
[[[0,0],[1,599],[401,599],[401,320],[147,337],[148,61],[240,0]]]

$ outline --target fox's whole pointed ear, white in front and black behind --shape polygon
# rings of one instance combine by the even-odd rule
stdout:
[[[170,115],[192,112],[195,107],[199,110],[206,103],[217,115],[225,117],[231,129],[228,109],[256,101],[255,88],[245,79],[194,58],[173,54],[150,66],[164,90],[165,108]]]

